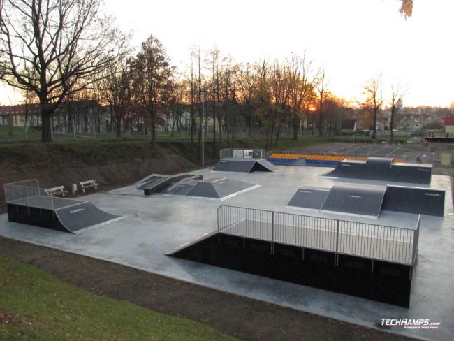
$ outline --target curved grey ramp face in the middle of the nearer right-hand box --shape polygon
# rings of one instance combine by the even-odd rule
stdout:
[[[323,204],[322,211],[378,217],[385,191],[384,186],[335,184]]]

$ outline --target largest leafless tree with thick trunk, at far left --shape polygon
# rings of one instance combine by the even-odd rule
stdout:
[[[52,140],[51,116],[115,63],[123,36],[96,0],[4,0],[0,9],[0,75],[36,93],[42,140]],[[90,82],[82,81],[90,79]]]

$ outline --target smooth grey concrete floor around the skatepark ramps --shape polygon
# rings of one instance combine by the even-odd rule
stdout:
[[[217,208],[221,203],[351,219],[345,215],[285,208],[299,187],[332,187],[338,183],[336,180],[320,177],[326,171],[326,168],[281,166],[274,173],[225,173],[223,177],[260,184],[261,187],[222,202],[218,199],[170,194],[146,197],[133,187],[123,187],[83,197],[83,200],[91,201],[101,210],[126,216],[119,222],[79,235],[70,235],[36,226],[8,223],[6,215],[1,215],[0,234],[368,327],[376,327],[382,318],[430,319],[440,322],[441,327],[438,330],[393,328],[390,331],[427,340],[453,340],[454,298],[451,295],[451,276],[454,266],[451,260],[454,256],[454,213],[451,191],[447,190],[450,188],[449,178],[446,176],[432,176],[433,188],[447,190],[445,217],[422,218],[419,262],[413,278],[411,306],[408,310],[164,255],[186,242],[193,242],[200,235],[216,230]],[[214,175],[206,169],[191,173],[204,177]],[[221,174],[216,173],[216,176]],[[385,184],[366,180],[349,182]],[[409,186],[408,183],[401,185]],[[356,220],[414,228],[417,216],[386,211],[382,212],[378,219]]]

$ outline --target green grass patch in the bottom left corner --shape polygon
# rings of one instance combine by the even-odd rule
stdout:
[[[0,340],[233,340],[0,257]]]

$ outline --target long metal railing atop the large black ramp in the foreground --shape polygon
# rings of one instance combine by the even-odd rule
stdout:
[[[218,233],[278,242],[413,266],[418,252],[416,230],[341,219],[295,215],[221,205]]]

